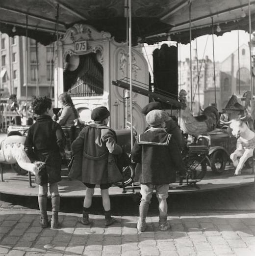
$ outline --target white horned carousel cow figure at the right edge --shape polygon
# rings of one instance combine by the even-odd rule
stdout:
[[[248,158],[253,156],[255,148],[255,132],[251,131],[247,124],[243,121],[247,116],[240,119],[233,119],[229,122],[223,122],[229,124],[232,135],[237,138],[236,149],[230,154],[230,159],[236,167],[234,175],[241,174],[241,170]],[[240,157],[239,161],[237,157]]]

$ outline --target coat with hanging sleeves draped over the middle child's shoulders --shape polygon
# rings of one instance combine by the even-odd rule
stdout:
[[[73,142],[72,152],[74,163],[70,172],[81,174],[76,176],[82,182],[99,185],[122,179],[114,158],[122,153],[122,148],[110,127],[97,123],[85,126]]]

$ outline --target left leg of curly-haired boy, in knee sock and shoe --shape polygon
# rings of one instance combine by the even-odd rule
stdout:
[[[39,185],[38,205],[41,212],[40,224],[42,228],[48,227],[47,193],[48,193],[48,184],[46,183],[43,185]]]

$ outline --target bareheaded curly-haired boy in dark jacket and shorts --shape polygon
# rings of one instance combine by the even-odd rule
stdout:
[[[64,153],[65,136],[61,126],[52,120],[53,110],[50,98],[38,97],[32,102],[31,107],[38,117],[28,129],[25,152],[38,170],[35,174],[35,183],[39,185],[40,224],[42,228],[48,227],[49,183],[52,204],[51,228],[57,228],[60,203],[57,182],[61,180],[61,154]]]

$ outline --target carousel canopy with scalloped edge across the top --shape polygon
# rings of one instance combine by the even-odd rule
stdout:
[[[153,44],[170,39],[189,42],[189,14],[192,39],[233,29],[249,30],[249,0],[131,0],[132,43]],[[191,5],[190,5],[191,4]],[[27,35],[42,44],[56,40],[76,23],[108,31],[118,42],[126,41],[128,0],[1,0],[0,31]],[[191,12],[190,12],[191,11]],[[255,0],[251,0],[252,27]],[[58,22],[57,22],[58,21]],[[56,26],[58,23],[58,28]],[[220,29],[216,28],[219,25]]]

